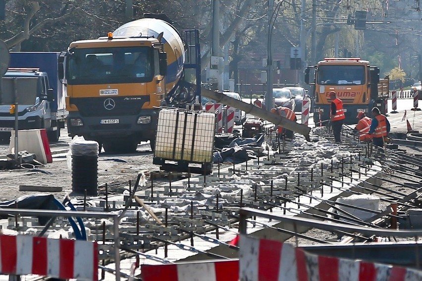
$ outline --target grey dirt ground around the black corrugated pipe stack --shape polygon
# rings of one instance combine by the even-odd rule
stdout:
[[[52,193],[57,199],[62,199],[65,194],[71,197],[80,197],[72,192],[72,169],[67,167],[66,152],[69,149],[70,138],[63,138],[57,143],[51,144],[53,163],[45,166],[30,167],[28,169],[0,170],[0,201],[15,199],[20,196],[41,193],[33,191],[19,191],[19,186],[43,186],[62,187],[61,192]],[[8,143],[0,143],[0,155],[6,155]],[[5,157],[2,156],[1,159]],[[153,153],[148,143],[140,144],[136,153],[132,154],[106,154],[104,151],[98,158],[98,193],[105,194],[105,184],[109,194],[121,194],[129,187],[129,180],[132,187],[136,182],[139,172],[159,169],[152,164]],[[80,171],[74,174],[78,175]],[[158,181],[157,181],[158,183]],[[90,197],[90,196],[88,196]]]

